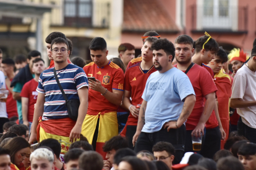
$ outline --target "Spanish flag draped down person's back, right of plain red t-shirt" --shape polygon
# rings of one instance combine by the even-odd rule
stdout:
[[[221,124],[226,132],[226,139],[221,140],[221,149],[223,149],[229,135],[229,99],[232,93],[232,84],[229,75],[226,75],[223,69],[221,69],[220,72],[214,76],[214,81],[218,89],[216,94],[218,97],[218,111]]]

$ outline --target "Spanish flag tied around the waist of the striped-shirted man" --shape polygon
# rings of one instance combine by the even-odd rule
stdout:
[[[37,140],[41,142],[44,139],[56,139],[61,144],[61,154],[65,154],[71,145],[69,135],[75,123],[76,122],[70,118],[42,121],[40,117],[37,126],[37,134],[39,134]]]

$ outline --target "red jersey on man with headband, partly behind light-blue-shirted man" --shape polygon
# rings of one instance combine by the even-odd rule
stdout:
[[[132,67],[126,70],[126,75],[124,76],[124,89],[130,92],[130,97],[132,97],[132,105],[141,105],[142,104],[142,94],[145,89],[147,79],[156,71],[154,65],[144,73],[142,68],[140,67],[140,62],[133,65]],[[127,125],[137,126],[138,118],[135,118],[130,113]]]

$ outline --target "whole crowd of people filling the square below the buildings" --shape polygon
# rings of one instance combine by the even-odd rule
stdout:
[[[0,170],[256,170],[256,39],[247,57],[148,31],[108,60],[96,37],[87,61],[61,32],[45,42],[48,68],[0,49]]]

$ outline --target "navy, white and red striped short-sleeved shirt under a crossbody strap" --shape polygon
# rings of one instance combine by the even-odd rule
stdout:
[[[56,70],[67,99],[79,99],[77,90],[87,86],[87,75],[82,68],[69,64],[67,67]],[[37,92],[45,94],[43,120],[68,118],[66,101],[54,78],[53,68],[43,71],[38,80]]]

